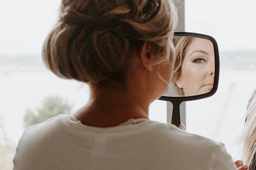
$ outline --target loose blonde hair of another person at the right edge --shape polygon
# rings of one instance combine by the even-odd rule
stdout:
[[[246,111],[246,122],[241,133],[243,142],[242,157],[245,164],[248,164],[248,169],[255,168],[256,154],[256,90],[249,99]]]

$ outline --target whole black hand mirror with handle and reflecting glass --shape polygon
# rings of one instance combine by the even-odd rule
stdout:
[[[180,125],[180,104],[214,95],[218,88],[219,54],[216,40],[205,34],[175,32],[175,62],[169,90],[159,100],[171,102],[171,124]]]

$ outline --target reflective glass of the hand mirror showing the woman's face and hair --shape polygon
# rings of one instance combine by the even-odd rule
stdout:
[[[204,38],[174,36],[175,63],[172,82],[163,96],[183,97],[209,93],[214,85],[213,43]]]

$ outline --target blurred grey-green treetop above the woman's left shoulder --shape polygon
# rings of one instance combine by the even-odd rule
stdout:
[[[46,121],[50,117],[58,114],[70,114],[72,105],[60,97],[49,96],[42,102],[42,106],[36,108],[36,111],[28,109],[24,116],[24,126],[29,127]]]

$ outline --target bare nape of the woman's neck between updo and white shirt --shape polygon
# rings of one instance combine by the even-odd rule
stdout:
[[[131,90],[91,88],[90,99],[75,115],[88,126],[114,127],[130,118],[148,118],[149,104]]]

